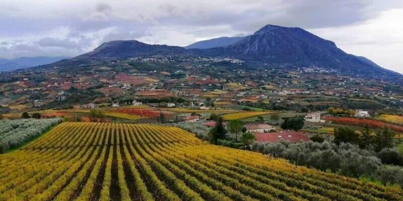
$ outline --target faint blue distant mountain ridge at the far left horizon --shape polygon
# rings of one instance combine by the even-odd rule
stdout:
[[[68,57],[20,57],[16,59],[0,58],[0,71],[29,68],[38,65],[53,63]]]

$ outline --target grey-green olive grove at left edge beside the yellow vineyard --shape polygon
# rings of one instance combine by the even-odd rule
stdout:
[[[34,139],[60,122],[60,118],[0,121],[0,153],[14,149]]]

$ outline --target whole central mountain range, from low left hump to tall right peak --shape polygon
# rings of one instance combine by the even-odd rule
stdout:
[[[221,37],[178,47],[150,45],[136,40],[109,41],[94,51],[57,62],[58,66],[77,64],[83,59],[128,58],[139,56],[190,55],[226,57],[270,68],[321,67],[368,77],[390,78],[399,73],[384,69],[367,58],[348,54],[334,42],[301,28],[266,25],[246,37]]]

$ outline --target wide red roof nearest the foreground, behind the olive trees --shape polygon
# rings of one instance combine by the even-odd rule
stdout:
[[[281,140],[296,143],[299,140],[309,141],[308,136],[303,132],[284,132],[284,133],[255,133],[257,142],[279,142]]]

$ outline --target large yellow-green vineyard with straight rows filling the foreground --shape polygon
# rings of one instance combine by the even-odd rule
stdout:
[[[402,200],[401,189],[210,145],[170,126],[66,122],[0,155],[0,200]]]

